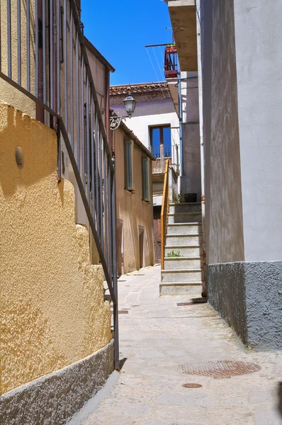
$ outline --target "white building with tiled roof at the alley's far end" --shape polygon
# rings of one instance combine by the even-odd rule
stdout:
[[[179,157],[179,118],[166,82],[111,86],[111,108],[124,115],[123,99],[129,94],[135,98],[135,112],[126,121],[128,128],[142,140],[152,152],[152,191],[154,205],[154,259],[160,262],[161,229],[160,217],[164,188],[166,159],[169,159],[174,185],[174,198],[178,196]],[[172,191],[171,191],[172,197]]]

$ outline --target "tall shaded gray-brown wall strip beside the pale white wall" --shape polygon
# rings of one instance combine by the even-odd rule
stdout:
[[[208,263],[244,260],[233,0],[203,0]]]

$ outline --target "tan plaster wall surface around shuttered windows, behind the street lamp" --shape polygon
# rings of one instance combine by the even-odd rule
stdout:
[[[146,157],[146,154],[133,143],[133,184],[135,193],[131,193],[125,190],[125,133],[119,128],[115,130],[114,137],[117,220],[118,226],[123,225],[123,237],[121,240],[123,250],[122,272],[128,273],[140,268],[138,226],[145,229],[145,266],[154,264],[152,163],[150,161],[151,203],[147,203],[142,200],[142,157]],[[120,250],[120,246],[118,246],[118,250]]]

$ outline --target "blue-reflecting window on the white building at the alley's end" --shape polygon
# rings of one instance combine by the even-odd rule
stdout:
[[[169,125],[150,128],[152,154],[156,158],[171,157],[171,128]]]

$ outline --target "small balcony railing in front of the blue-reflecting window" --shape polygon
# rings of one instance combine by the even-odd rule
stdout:
[[[165,172],[166,162],[172,166],[174,171],[179,171],[179,147],[178,145],[160,145],[152,148],[152,154],[156,160],[152,162],[153,174],[162,174]]]

